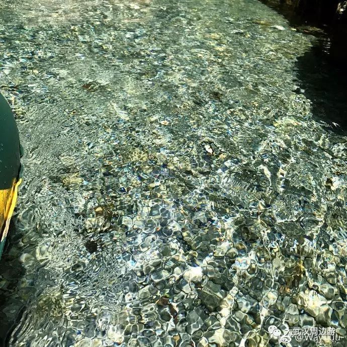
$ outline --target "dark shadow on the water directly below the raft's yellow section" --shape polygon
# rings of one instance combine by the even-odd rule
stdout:
[[[16,217],[10,224],[9,234],[0,259],[0,347],[9,345],[9,338],[21,318],[25,300],[20,296],[20,282],[25,270],[20,262],[21,253],[14,245],[22,237],[16,227]]]

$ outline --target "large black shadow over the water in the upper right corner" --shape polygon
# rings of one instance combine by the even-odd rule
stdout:
[[[306,5],[306,8],[294,10],[285,0],[262,2],[282,14],[299,33],[316,37],[314,47],[297,60],[300,89],[296,92],[311,101],[316,121],[326,129],[346,135],[347,47],[345,38],[338,37],[331,29],[331,4],[327,9],[309,9]]]

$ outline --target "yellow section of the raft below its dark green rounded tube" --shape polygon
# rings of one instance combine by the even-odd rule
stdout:
[[[10,220],[17,202],[18,187],[21,183],[22,179],[17,182],[14,180],[11,188],[0,190],[0,254],[5,245]]]

